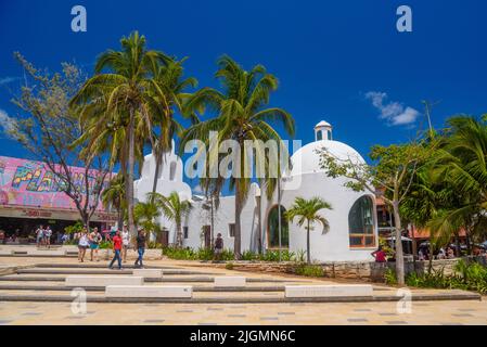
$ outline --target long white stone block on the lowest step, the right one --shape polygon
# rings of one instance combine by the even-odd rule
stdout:
[[[373,296],[369,284],[334,284],[334,285],[286,285],[285,297],[345,297]]]

